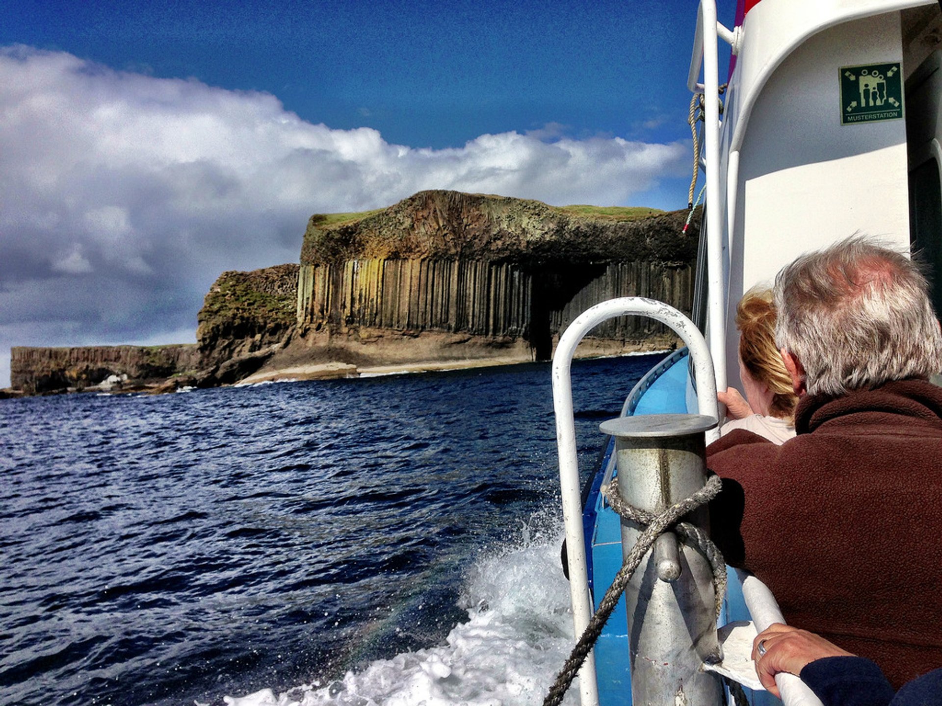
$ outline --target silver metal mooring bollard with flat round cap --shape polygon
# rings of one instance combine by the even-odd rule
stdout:
[[[704,487],[705,432],[713,417],[654,414],[601,425],[615,437],[618,491],[635,507],[660,513]],[[708,530],[706,505],[686,521]],[[643,527],[622,519],[627,554]],[[719,656],[713,571],[696,548],[673,533],[658,537],[625,588],[632,703],[641,706],[719,706],[723,687],[702,669]]]

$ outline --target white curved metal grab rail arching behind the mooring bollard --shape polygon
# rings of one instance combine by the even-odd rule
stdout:
[[[569,560],[569,590],[577,635],[585,631],[592,618],[593,602],[589,594],[585,535],[582,531],[582,500],[579,491],[576,421],[573,415],[573,385],[570,372],[576,347],[586,333],[609,318],[627,314],[653,318],[680,336],[690,348],[690,358],[697,380],[699,412],[717,419],[720,417],[713,361],[707,342],[693,322],[674,307],[656,299],[643,297],[609,299],[579,314],[560,337],[560,343],[556,346],[553,356],[553,408],[556,412],[556,443],[560,455],[560,490]],[[718,431],[712,434],[707,432],[707,442],[713,441],[718,434]],[[579,670],[579,696],[582,706],[598,704],[598,685],[595,681],[595,661],[592,654]]]

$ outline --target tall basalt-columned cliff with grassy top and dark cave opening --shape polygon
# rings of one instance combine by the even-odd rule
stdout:
[[[607,298],[653,297],[690,313],[698,233],[681,233],[684,217],[617,220],[454,191],[423,191],[349,222],[314,216],[301,249],[299,333],[367,360],[487,349],[547,360],[560,332]],[[660,325],[625,317],[586,346],[673,343]]]

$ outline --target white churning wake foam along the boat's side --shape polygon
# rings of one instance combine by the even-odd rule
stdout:
[[[528,531],[525,532],[525,541]],[[574,644],[560,538],[479,559],[461,600],[468,621],[444,645],[398,654],[330,684],[271,689],[230,706],[529,706],[540,704]],[[578,701],[578,682],[565,704]]]

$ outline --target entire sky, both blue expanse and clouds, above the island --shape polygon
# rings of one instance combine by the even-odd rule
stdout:
[[[10,345],[195,340],[212,281],[297,262],[313,213],[431,187],[686,205],[692,0],[0,16],[0,386]]]

